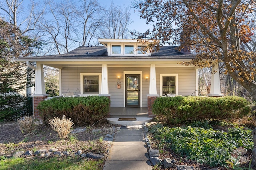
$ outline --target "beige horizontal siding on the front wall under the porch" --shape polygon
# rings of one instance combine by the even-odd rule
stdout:
[[[111,94],[111,107],[124,106],[124,71],[142,71],[142,107],[147,107],[147,95],[149,93],[150,68],[136,67],[108,67],[108,88]],[[62,94],[67,94],[68,90],[72,94],[80,93],[80,73],[101,73],[102,67],[63,67],[62,69]],[[194,67],[168,67],[156,68],[156,87],[160,94],[160,74],[178,74],[179,95],[188,96],[196,90],[196,72]],[[120,76],[121,88],[117,88],[117,76]]]

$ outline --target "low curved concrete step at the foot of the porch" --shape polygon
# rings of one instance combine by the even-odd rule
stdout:
[[[112,118],[106,118],[108,123],[114,124],[114,125],[143,125],[146,122],[150,122],[153,118],[150,117],[137,117],[134,121],[118,121],[120,117],[112,117]]]

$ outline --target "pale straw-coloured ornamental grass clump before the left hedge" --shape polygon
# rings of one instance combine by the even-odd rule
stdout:
[[[74,125],[71,118],[66,119],[66,115],[63,115],[62,119],[54,117],[54,119],[48,119],[48,121],[52,129],[58,132],[61,139],[68,137],[70,129]]]

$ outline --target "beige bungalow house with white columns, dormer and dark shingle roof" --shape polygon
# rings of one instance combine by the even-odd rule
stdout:
[[[151,53],[143,43],[133,39],[98,41],[102,46],[82,46],[62,55],[16,59],[26,61],[28,66],[36,62],[32,95],[35,117],[39,117],[38,103],[48,98],[43,65],[59,69],[60,96],[108,96],[110,117],[139,116],[137,113],[152,117],[151,106],[159,96],[189,96],[198,90],[198,67],[179,64],[194,58],[189,48],[178,51],[176,46],[162,46]],[[218,64],[214,69],[218,72]],[[212,74],[210,96],[219,95],[219,74]]]

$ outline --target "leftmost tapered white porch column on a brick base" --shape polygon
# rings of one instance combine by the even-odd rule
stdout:
[[[35,70],[35,95],[46,94],[45,86],[44,86],[44,70],[43,64],[36,63],[36,70]]]

